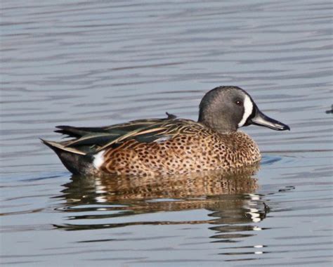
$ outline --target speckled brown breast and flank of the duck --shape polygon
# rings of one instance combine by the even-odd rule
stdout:
[[[107,174],[185,174],[214,169],[231,170],[256,164],[258,145],[246,133],[216,133],[204,126],[179,133],[160,143],[130,140],[105,150],[100,170]]]

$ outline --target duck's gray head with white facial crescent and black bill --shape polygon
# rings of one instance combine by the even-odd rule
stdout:
[[[206,93],[200,103],[198,122],[221,133],[249,124],[289,130],[286,124],[263,115],[251,96],[237,86],[220,86]]]

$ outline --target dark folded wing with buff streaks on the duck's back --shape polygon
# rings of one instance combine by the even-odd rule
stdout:
[[[132,140],[139,143],[164,142],[179,133],[189,131],[191,126],[196,124],[197,122],[175,119],[174,116],[169,115],[166,119],[141,119],[100,128],[58,126],[60,129],[58,132],[76,137],[63,142],[65,148],[73,148],[89,154],[112,146],[117,147]]]

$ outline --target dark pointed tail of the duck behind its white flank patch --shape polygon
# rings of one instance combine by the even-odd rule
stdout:
[[[66,148],[64,144],[41,139],[41,142],[58,155],[61,162],[72,174],[91,174],[93,157],[74,148]]]

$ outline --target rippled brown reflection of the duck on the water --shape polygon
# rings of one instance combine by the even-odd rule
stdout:
[[[209,223],[217,231],[212,238],[230,242],[241,231],[259,230],[251,225],[265,218],[266,204],[256,195],[258,185],[252,175],[257,167],[223,174],[220,171],[206,174],[189,174],[165,177],[82,177],[72,176],[65,184],[65,204],[58,210],[70,212],[70,223],[57,226],[65,230],[114,228],[143,224],[195,224]],[[157,211],[185,211],[206,209],[211,219],[200,221],[135,221],[126,216]],[[117,217],[117,223],[114,223]],[[119,222],[122,218],[122,222]],[[141,217],[142,218],[142,217]],[[89,224],[79,223],[91,219]],[[107,223],[98,223],[107,219]],[[74,223],[77,221],[78,223]],[[72,223],[73,222],[73,223]],[[237,234],[235,233],[237,232]]]

